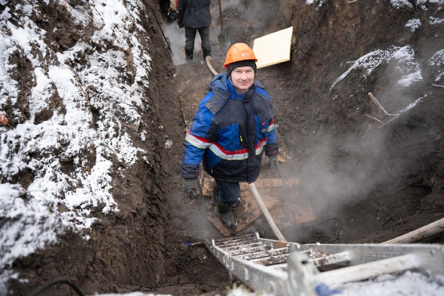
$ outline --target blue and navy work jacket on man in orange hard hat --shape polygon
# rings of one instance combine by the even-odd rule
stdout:
[[[258,80],[238,94],[226,74],[215,76],[209,90],[186,131],[182,177],[197,178],[202,161],[215,179],[253,183],[264,151],[279,153],[271,99]]]

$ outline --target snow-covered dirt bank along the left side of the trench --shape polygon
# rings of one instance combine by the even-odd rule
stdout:
[[[39,4],[49,2],[25,3],[0,14],[0,112],[12,108],[14,118],[9,122],[18,122],[15,127],[0,127],[0,169],[7,181],[0,184],[0,291],[13,276],[5,271],[13,259],[55,242],[67,229],[90,227],[97,220],[91,209],[99,204],[105,214],[118,211],[110,193],[112,155],[129,167],[150,153],[135,147],[122,129],[122,122],[138,127],[140,112],[147,108],[142,96],[148,87],[150,56],[137,31],[128,30],[138,22],[142,2],[127,0],[125,6],[119,0],[95,0],[89,1],[87,10],[86,5],[74,8],[67,1],[75,23],[93,23],[95,33],[92,42],[80,39],[64,52],[53,52],[45,44],[47,32],[30,18]],[[24,17],[17,21],[20,14]],[[137,28],[144,30],[140,24]],[[114,50],[107,50],[106,42],[112,42]],[[10,63],[17,54],[31,62],[35,84],[26,97],[27,119],[18,107],[25,94],[13,76],[17,65]],[[74,62],[79,54],[88,63]],[[124,54],[133,57],[132,83],[119,71],[127,67]],[[87,94],[88,87],[97,90],[96,95]],[[49,119],[36,120],[57,102]],[[91,107],[99,111],[97,121]],[[72,163],[73,169],[65,163]],[[16,180],[26,171],[34,179],[23,188]],[[59,211],[61,205],[66,209]]]

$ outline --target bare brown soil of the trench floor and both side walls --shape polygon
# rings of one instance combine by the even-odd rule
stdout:
[[[217,2],[212,2],[216,11]],[[310,200],[317,217],[306,224],[337,219],[315,227],[286,226],[287,240],[326,243],[339,233],[340,221],[335,242],[379,243],[443,218],[444,88],[426,78],[400,94],[389,87],[390,74],[378,68],[368,79],[353,73],[329,92],[348,69],[346,62],[376,48],[412,44],[424,57],[442,49],[443,25],[413,33],[404,25],[413,17],[427,23],[432,11],[443,18],[443,10],[432,4],[428,11],[395,9],[389,1],[325,1],[319,9],[303,0],[269,2],[239,1],[237,9],[225,11],[224,28],[232,42],[252,46],[256,37],[294,26],[291,61],[259,69],[257,79],[270,93],[277,129],[292,159],[285,174],[300,180],[298,194]],[[156,106],[151,130],[158,130],[146,141],[158,151],[156,165],[136,163],[125,182],[115,182],[121,211],[94,224],[90,241],[66,235],[58,245],[16,260],[15,270],[30,281],[12,280],[13,295],[28,295],[59,277],[70,278],[85,294],[223,295],[232,286],[225,268],[204,246],[185,245],[222,237],[206,219],[212,211],[208,199],[193,202],[184,195],[180,171],[184,130],[213,75],[199,56],[193,63],[173,65],[152,14],[147,13],[146,25],[153,59],[150,95]],[[213,67],[223,71],[222,64],[215,56]],[[369,92],[393,111],[395,97],[414,101],[427,94],[427,100],[390,124],[378,128],[373,123],[369,129],[365,114],[377,111]],[[166,140],[172,141],[171,148],[165,148]],[[252,230],[275,239],[263,218],[239,234]],[[425,243],[443,241],[441,235]],[[46,295],[71,292],[59,286]]]

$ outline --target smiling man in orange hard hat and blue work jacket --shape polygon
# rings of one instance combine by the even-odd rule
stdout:
[[[200,196],[197,178],[202,162],[215,179],[211,203],[228,228],[237,224],[231,210],[240,202],[239,182],[256,181],[264,152],[271,168],[279,154],[271,99],[255,80],[257,61],[245,43],[228,49],[226,74],[211,81],[183,142],[185,192],[190,198]]]

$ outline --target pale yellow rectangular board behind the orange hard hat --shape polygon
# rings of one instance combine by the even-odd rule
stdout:
[[[258,69],[290,61],[293,27],[256,38],[253,51]]]

